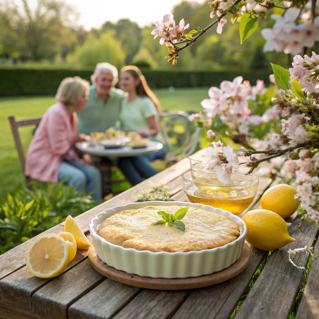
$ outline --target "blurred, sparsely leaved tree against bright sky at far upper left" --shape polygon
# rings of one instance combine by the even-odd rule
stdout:
[[[34,10],[29,1],[20,5],[6,1],[0,6],[3,54],[15,58],[53,59],[74,50],[77,11],[59,0],[37,0]]]

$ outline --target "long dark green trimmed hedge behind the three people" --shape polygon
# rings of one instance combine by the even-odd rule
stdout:
[[[37,69],[37,68],[0,68],[0,96],[17,95],[54,95],[61,80],[78,75],[90,80],[93,70]],[[219,86],[223,80],[232,81],[241,75],[252,85],[256,80],[269,83],[269,73],[260,71],[159,71],[143,70],[143,74],[152,88]]]

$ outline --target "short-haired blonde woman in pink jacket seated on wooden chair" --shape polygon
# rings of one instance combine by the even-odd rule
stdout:
[[[65,78],[56,93],[58,103],[43,115],[26,153],[25,173],[43,182],[66,179],[75,189],[93,191],[92,197],[100,201],[100,171],[90,166],[90,156],[80,159],[74,151],[78,136],[78,118],[75,111],[83,110],[88,101],[89,83],[79,77]]]

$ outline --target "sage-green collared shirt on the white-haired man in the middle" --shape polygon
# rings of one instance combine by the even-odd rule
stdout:
[[[122,90],[113,88],[104,103],[96,92],[95,85],[91,85],[89,101],[85,103],[83,111],[77,112],[79,133],[89,135],[92,132],[104,132],[109,127],[115,126],[124,98]]]

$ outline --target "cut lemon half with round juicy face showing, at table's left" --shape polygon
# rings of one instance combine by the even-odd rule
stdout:
[[[57,234],[36,238],[26,253],[26,266],[33,276],[52,278],[60,275],[70,260],[68,245]]]

